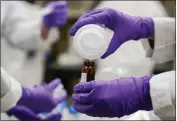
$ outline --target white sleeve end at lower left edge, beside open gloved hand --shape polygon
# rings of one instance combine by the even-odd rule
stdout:
[[[1,67],[1,112],[16,105],[22,96],[22,86]]]

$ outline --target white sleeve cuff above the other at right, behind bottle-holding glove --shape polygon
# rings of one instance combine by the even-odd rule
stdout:
[[[155,47],[152,59],[158,63],[165,63],[175,59],[175,18],[161,17],[154,19]]]

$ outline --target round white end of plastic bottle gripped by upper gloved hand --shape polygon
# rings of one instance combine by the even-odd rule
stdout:
[[[81,27],[74,36],[74,49],[81,57],[94,60],[100,58],[109,46],[106,29],[89,24]]]

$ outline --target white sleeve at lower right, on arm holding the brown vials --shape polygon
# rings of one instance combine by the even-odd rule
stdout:
[[[162,120],[175,119],[175,71],[152,77],[150,94],[155,114]]]

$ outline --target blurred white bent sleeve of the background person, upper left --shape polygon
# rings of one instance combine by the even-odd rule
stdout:
[[[8,9],[3,22],[2,35],[12,45],[24,50],[44,49],[45,43],[52,43],[58,37],[55,34],[46,42],[41,39],[43,9],[31,6],[25,1],[4,1],[4,5],[8,6],[6,7]]]

